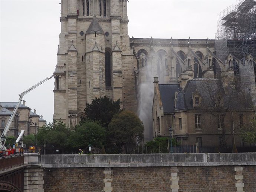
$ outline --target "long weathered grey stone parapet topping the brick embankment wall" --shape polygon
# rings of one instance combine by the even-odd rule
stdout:
[[[42,155],[42,168],[256,165],[256,153]]]

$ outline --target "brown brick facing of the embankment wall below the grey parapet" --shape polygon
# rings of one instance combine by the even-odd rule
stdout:
[[[45,192],[234,192],[236,166],[45,168]],[[244,191],[256,189],[256,167],[242,166]],[[108,182],[108,185],[106,183]]]

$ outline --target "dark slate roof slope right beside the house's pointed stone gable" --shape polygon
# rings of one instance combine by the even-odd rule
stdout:
[[[178,84],[159,84],[164,113],[173,112],[175,92],[178,90],[180,90],[180,85]]]

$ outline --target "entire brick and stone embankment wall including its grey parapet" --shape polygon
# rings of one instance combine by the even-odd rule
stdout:
[[[24,192],[256,191],[256,153],[25,153],[22,166]]]

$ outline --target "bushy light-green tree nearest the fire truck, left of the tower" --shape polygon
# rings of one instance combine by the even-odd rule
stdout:
[[[39,129],[37,143],[41,146],[64,148],[68,146],[70,132],[63,122],[49,123]]]

